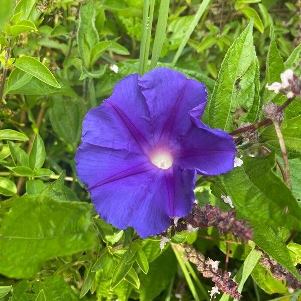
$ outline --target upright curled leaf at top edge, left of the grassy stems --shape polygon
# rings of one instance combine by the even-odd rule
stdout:
[[[77,45],[81,59],[86,68],[90,67],[90,52],[99,42],[98,32],[95,27],[95,4],[88,0],[81,6],[79,12],[79,25],[77,31]]]

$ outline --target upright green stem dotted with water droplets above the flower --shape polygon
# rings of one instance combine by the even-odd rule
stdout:
[[[155,9],[155,0],[144,0],[142,35],[139,56],[139,75],[143,75],[147,70],[149,55],[150,37],[152,36],[152,25]]]

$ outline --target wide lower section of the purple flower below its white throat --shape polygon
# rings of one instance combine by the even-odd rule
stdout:
[[[88,186],[96,211],[119,229],[135,228],[145,238],[165,231],[171,216],[192,208],[195,171],[162,170],[143,155],[83,143],[78,177]]]

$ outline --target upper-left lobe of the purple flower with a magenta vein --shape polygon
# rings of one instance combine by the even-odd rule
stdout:
[[[138,75],[129,75],[115,85],[108,99],[86,114],[82,141],[134,153],[146,152],[152,142],[148,120]]]

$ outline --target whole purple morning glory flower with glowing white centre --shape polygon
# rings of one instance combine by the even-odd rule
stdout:
[[[145,238],[192,209],[196,174],[233,169],[232,136],[200,121],[203,83],[169,68],[126,76],[83,121],[75,157],[100,217]]]

